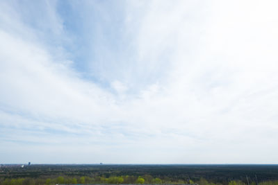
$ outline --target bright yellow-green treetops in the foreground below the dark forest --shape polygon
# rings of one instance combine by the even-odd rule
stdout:
[[[104,176],[96,176],[96,177],[52,177],[52,178],[1,178],[0,184],[2,185],[40,185],[40,184],[199,184],[199,185],[248,185],[240,180],[232,180],[230,182],[222,183],[214,183],[208,182],[206,179],[201,178],[196,182],[193,182],[191,179],[178,179],[176,181],[172,181],[170,178],[158,178],[152,177],[151,175],[143,175],[143,176],[112,176],[112,177],[104,177]],[[278,180],[276,181],[265,181],[265,182],[250,182],[250,185],[278,185]]]

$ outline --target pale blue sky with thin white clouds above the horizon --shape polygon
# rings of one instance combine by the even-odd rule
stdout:
[[[277,1],[0,1],[0,164],[278,164]]]

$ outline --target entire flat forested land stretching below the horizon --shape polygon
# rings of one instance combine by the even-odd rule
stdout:
[[[1,184],[276,184],[278,165],[33,164],[1,166],[0,175]]]

